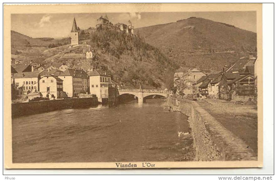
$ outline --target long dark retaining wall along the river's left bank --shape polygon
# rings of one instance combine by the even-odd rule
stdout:
[[[55,111],[66,108],[80,108],[97,106],[98,99],[95,98],[70,98],[55,99],[47,101],[35,101],[28,103],[12,103],[12,118],[31,114]]]

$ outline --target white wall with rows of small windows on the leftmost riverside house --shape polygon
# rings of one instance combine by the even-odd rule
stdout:
[[[28,82],[28,84],[26,82]],[[15,84],[16,88],[23,86],[23,90],[31,90],[31,92],[35,90],[39,91],[38,78],[12,78],[12,83]]]

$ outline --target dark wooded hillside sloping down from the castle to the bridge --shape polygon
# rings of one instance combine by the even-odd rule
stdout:
[[[81,31],[80,37],[89,38],[88,44],[105,55],[101,63],[114,80],[118,78],[126,86],[170,88],[172,72],[178,66],[140,37],[113,29],[98,29],[91,33]]]

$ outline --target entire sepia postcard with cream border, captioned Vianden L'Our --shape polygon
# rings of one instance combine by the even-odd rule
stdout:
[[[231,6],[6,6],[5,167],[262,167],[262,6]]]

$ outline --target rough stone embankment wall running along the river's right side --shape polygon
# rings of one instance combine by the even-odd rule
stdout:
[[[222,120],[222,117],[228,119],[225,114],[215,118],[202,107],[203,105],[200,106],[198,101],[168,98],[168,102],[173,106],[173,110],[181,111],[188,117],[196,149],[195,160],[257,160],[255,151],[217,120],[217,118]],[[206,105],[206,107],[212,109],[212,105]],[[237,115],[237,113],[234,114]],[[240,127],[245,129],[243,124]]]

